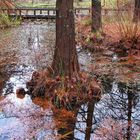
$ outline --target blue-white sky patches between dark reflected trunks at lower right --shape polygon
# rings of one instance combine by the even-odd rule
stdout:
[[[127,91],[127,90],[126,90]],[[111,126],[114,125],[114,132],[116,133],[125,133],[124,129],[127,128],[127,107],[128,107],[128,96],[126,91],[121,93],[116,82],[113,82],[112,89],[110,93],[107,93],[102,96],[102,99],[95,104],[94,107],[94,119],[93,119],[93,133],[91,134],[91,140],[107,140],[101,134],[101,128],[107,130],[108,136],[111,133]],[[135,94],[135,93],[132,93]],[[83,130],[83,132],[75,129],[75,137],[84,140],[85,137],[85,129],[86,129],[86,119],[87,119],[87,105],[85,107],[81,107],[85,110],[85,113],[78,113],[77,115],[77,123],[76,128],[79,130]],[[79,110],[81,112],[81,110]],[[82,115],[85,117],[83,119]],[[135,106],[132,107],[132,128],[133,128],[133,136],[136,137],[138,132],[140,131],[140,94],[137,95],[137,101]],[[80,122],[81,121],[81,122]],[[83,122],[82,122],[83,121]],[[102,130],[103,131],[103,130]],[[100,135],[99,135],[100,134]],[[100,137],[102,136],[102,137]]]

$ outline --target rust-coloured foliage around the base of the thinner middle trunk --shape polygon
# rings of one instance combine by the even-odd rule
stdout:
[[[76,27],[77,44],[80,44],[82,48],[90,51],[97,52],[103,50],[102,46],[105,34],[101,30],[96,32],[91,31],[91,20],[89,16],[78,18]]]

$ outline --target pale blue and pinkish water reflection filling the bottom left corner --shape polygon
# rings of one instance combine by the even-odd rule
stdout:
[[[55,139],[57,132],[50,106],[44,108],[29,95],[20,99],[15,94],[7,95],[0,106],[1,140]]]

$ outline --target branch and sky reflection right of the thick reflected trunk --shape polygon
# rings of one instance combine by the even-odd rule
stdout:
[[[140,131],[140,92],[137,87],[137,84],[114,82],[107,96],[95,107],[95,117],[99,116],[96,117],[98,129],[95,132],[100,134],[103,129],[109,132],[102,135],[104,139],[110,136],[114,139],[116,136],[128,140],[136,138]]]

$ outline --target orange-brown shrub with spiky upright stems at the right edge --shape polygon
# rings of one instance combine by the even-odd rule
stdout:
[[[133,8],[118,7],[114,22],[107,23],[104,31],[114,51],[123,56],[139,54],[140,23],[133,21]]]

